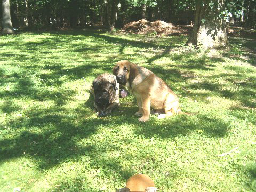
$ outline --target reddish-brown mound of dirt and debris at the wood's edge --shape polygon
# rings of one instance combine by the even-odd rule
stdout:
[[[123,30],[129,33],[136,34],[150,34],[156,33],[156,35],[187,35],[189,33],[190,25],[174,25],[164,21],[150,22],[146,19],[139,21],[133,21],[124,25]]]

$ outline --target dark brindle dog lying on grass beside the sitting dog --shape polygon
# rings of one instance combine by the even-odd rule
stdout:
[[[119,84],[112,74],[104,73],[95,78],[90,93],[94,95],[93,105],[98,117],[109,115],[119,106]]]

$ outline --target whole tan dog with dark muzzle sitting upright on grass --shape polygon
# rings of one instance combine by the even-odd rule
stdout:
[[[149,119],[150,107],[159,119],[182,113],[177,95],[152,71],[122,60],[116,63],[113,74],[119,84],[135,95],[139,107],[135,115],[142,116],[140,121]]]

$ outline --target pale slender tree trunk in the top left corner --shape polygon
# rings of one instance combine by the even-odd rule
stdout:
[[[9,0],[2,0],[2,22],[3,22],[3,31],[2,34],[13,34],[13,27],[10,14],[10,2]]]

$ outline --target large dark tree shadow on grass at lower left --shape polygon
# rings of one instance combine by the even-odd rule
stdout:
[[[26,118],[13,119],[7,124],[15,127],[26,127],[12,139],[3,139],[1,143],[1,161],[23,156],[24,152],[32,157],[39,169],[49,169],[65,162],[69,158],[90,151],[89,147],[77,145],[74,138],[86,138],[94,134],[97,125],[104,123],[101,119],[84,120],[75,124],[74,117],[62,108],[30,109]],[[39,130],[41,131],[39,131]],[[38,130],[40,133],[34,133]]]

